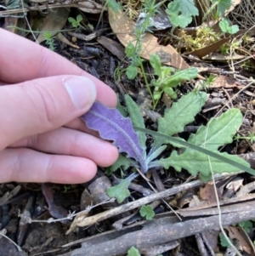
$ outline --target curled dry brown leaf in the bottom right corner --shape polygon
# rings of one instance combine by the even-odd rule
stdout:
[[[254,247],[252,246],[252,242],[250,241],[249,236],[247,236],[246,231],[241,229],[241,227],[234,226],[224,227],[224,229],[229,231],[229,237],[239,241],[243,251],[249,255],[255,256]]]

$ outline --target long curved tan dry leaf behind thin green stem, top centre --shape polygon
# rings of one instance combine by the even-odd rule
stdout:
[[[135,43],[136,38],[133,36],[135,23],[133,20],[130,20],[127,14],[124,14],[122,11],[115,13],[113,10],[109,9],[108,12],[111,29],[116,33],[116,37],[118,37],[121,43],[125,47],[128,42]],[[149,60],[150,54],[158,54],[161,58],[161,62],[166,65],[172,65],[178,69],[189,68],[189,65],[171,45],[159,45],[157,38],[152,34],[145,33],[142,44],[142,58]]]

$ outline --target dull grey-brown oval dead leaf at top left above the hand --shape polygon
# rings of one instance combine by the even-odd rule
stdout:
[[[54,11],[49,12],[43,21],[42,31],[49,31],[51,36],[54,37],[65,26],[69,12],[66,8],[54,9]],[[40,33],[37,41],[42,43],[44,40],[44,34]]]

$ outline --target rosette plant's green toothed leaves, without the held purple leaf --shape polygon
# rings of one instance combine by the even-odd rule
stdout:
[[[144,130],[144,119],[138,105],[133,102],[131,97],[126,95],[125,100],[133,126],[139,129],[139,144],[145,149],[146,154],[146,136],[140,132],[140,130]],[[238,156],[218,152],[220,146],[232,142],[233,136],[241,126],[243,117],[238,109],[231,109],[224,112],[220,117],[212,118],[207,126],[201,126],[195,134],[191,134],[187,142],[184,139],[170,137],[183,132],[184,126],[194,121],[195,115],[201,111],[206,100],[207,94],[200,91],[191,92],[184,95],[178,102],[173,103],[172,108],[166,109],[164,116],[158,118],[158,136],[154,137],[149,153],[143,156],[145,159],[144,172],[150,168],[159,167],[166,170],[173,167],[180,172],[184,168],[191,175],[200,172],[201,179],[207,180],[211,178],[211,170],[215,173],[228,173],[239,171],[241,169],[239,163],[241,163],[242,169],[249,166]],[[154,135],[156,132],[149,134]],[[170,156],[160,158],[161,152],[166,150],[167,144],[180,148],[180,150],[174,150]],[[198,151],[198,149],[200,150]],[[209,152],[213,154],[209,154]],[[208,160],[209,157],[210,161]],[[235,164],[231,161],[234,161]],[[116,163],[111,166],[111,171],[114,172],[120,167],[127,170],[130,166],[139,168],[139,163],[127,156],[120,155]],[[254,174],[251,169],[248,169],[248,172]],[[133,173],[127,179],[122,179],[119,185],[107,191],[108,196],[116,196],[117,201],[122,202],[125,197],[129,196],[128,185],[135,177],[137,174]]]

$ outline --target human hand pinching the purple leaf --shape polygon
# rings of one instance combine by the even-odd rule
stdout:
[[[116,161],[80,116],[116,94],[58,54],[0,29],[0,182],[82,183]],[[8,85],[7,85],[8,84]]]

